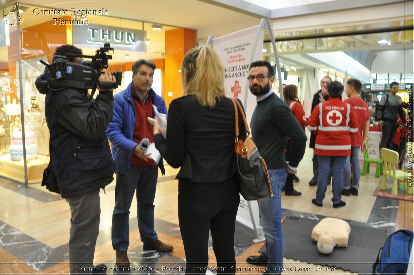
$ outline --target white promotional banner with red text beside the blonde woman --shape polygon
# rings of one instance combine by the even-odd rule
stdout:
[[[256,106],[256,96],[250,93],[249,82],[247,80],[249,76],[250,56],[253,52],[254,45],[256,45],[256,50],[253,61],[263,60],[264,30],[261,29],[258,41],[255,41],[258,29],[259,25],[213,39],[213,48],[219,53],[224,64],[224,86],[227,90],[227,96],[241,100],[246,111],[249,128],[250,118]],[[248,93],[247,102],[245,102],[246,93]],[[250,208],[255,224],[259,227],[260,219],[257,202],[252,201]],[[250,219],[249,203],[241,195],[236,220],[254,229]]]

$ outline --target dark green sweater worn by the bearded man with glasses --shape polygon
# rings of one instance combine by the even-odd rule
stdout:
[[[291,139],[289,165],[297,167],[305,154],[306,135],[289,106],[276,94],[259,101],[250,121],[253,141],[268,169],[285,167],[285,148]]]

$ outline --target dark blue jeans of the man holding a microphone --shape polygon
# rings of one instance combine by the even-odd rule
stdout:
[[[129,213],[134,191],[137,190],[138,229],[143,243],[158,240],[154,230],[154,198],[158,166],[131,165],[128,175],[117,173],[115,208],[112,214],[112,246],[127,251],[129,246]]]

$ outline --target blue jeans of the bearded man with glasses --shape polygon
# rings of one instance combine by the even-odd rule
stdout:
[[[286,182],[286,168],[269,169],[273,197],[259,200],[260,217],[266,236],[266,255],[269,256],[267,270],[279,274],[283,268],[283,233],[280,216],[282,212],[282,188]]]

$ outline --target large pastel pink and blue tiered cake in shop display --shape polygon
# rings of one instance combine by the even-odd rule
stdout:
[[[36,159],[39,156],[37,144],[35,144],[34,133],[32,131],[25,131],[24,141],[26,143],[26,159]],[[19,161],[23,158],[23,138],[22,132],[14,129],[12,134],[12,142],[10,145],[10,158]]]

